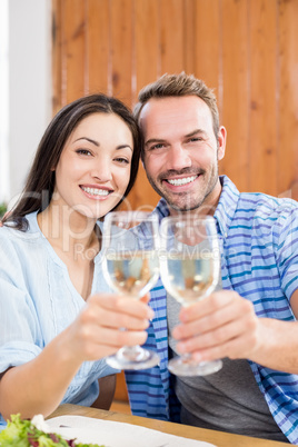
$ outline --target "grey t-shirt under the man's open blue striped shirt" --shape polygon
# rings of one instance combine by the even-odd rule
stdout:
[[[172,328],[179,322],[180,304],[167,297],[169,355],[176,356]],[[181,423],[287,443],[255,380],[247,360],[225,358],[222,369],[203,377],[176,377]]]

